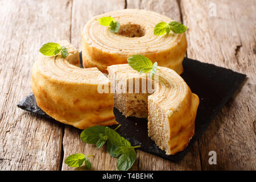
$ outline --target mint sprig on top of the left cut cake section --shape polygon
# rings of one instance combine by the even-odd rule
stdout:
[[[68,49],[65,46],[60,46],[58,43],[49,42],[44,44],[39,51],[44,56],[56,56],[61,52],[61,56],[68,56]]]

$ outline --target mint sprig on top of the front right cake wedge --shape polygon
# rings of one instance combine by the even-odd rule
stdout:
[[[157,62],[153,64],[150,59],[143,55],[130,56],[128,57],[127,62],[131,68],[135,69],[139,73],[150,72],[151,77],[155,75],[158,67]]]

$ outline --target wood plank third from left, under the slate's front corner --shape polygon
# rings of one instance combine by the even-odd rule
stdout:
[[[145,9],[155,11],[160,14],[181,22],[179,3],[176,0],[164,1],[127,1],[127,8]],[[139,166],[141,170],[200,170],[200,158],[198,143],[196,142],[192,150],[188,152],[180,163],[173,163],[170,160],[159,158],[138,150]]]

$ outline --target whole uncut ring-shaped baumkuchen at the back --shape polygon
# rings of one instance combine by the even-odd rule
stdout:
[[[101,26],[98,19],[112,16],[120,23],[114,34]],[[187,49],[185,34],[154,35],[159,22],[170,22],[167,16],[146,10],[125,9],[94,16],[82,31],[82,60],[85,68],[97,67],[104,73],[113,64],[126,64],[131,55],[144,55],[159,66],[183,72],[182,61]]]

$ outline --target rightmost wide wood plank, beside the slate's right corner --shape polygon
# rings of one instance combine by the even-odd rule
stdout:
[[[181,0],[183,23],[188,27],[188,57],[247,75],[199,139],[204,170],[256,169],[255,7],[256,2],[250,0]],[[212,150],[217,152],[216,165],[208,163]]]

